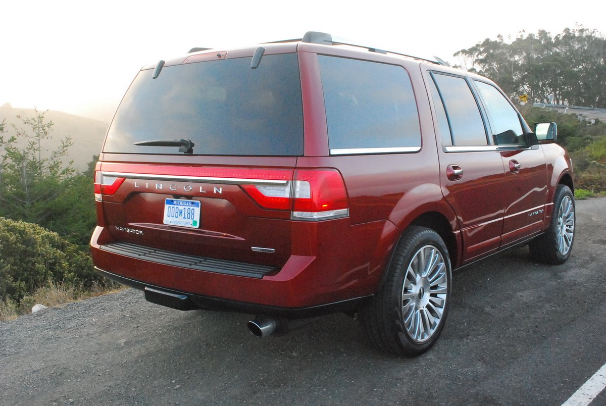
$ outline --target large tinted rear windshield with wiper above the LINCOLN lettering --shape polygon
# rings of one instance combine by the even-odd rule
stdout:
[[[135,142],[187,139],[194,155],[302,155],[296,54],[197,62],[142,70],[122,99],[104,152],[178,154]]]

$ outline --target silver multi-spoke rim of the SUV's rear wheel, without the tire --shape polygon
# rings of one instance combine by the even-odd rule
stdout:
[[[413,256],[402,285],[402,322],[408,336],[425,342],[433,336],[444,314],[448,293],[444,257],[433,245]]]

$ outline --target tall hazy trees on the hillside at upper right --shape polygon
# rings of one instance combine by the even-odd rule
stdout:
[[[513,100],[528,95],[530,102],[606,107],[606,38],[596,30],[566,28],[553,37],[521,32],[511,44],[498,36],[454,56]]]

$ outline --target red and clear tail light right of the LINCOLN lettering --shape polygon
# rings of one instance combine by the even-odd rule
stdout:
[[[293,220],[320,221],[347,217],[347,191],[334,169],[298,169],[281,185],[247,184],[241,187],[261,207],[291,210]]]

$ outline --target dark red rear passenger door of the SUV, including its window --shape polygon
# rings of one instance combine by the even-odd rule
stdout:
[[[490,145],[478,100],[465,76],[428,72],[436,115],[441,186],[462,232],[462,261],[498,250],[505,207],[505,173]],[[439,143],[440,144],[440,143]]]

